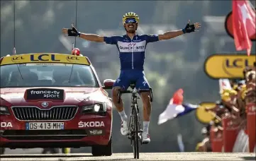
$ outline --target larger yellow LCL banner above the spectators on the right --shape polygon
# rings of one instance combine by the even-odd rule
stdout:
[[[213,54],[204,62],[204,71],[211,78],[243,78],[245,66],[252,66],[255,54]]]

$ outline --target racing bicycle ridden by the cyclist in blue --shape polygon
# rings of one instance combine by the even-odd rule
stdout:
[[[130,84],[130,88],[132,90],[118,90],[118,103],[120,103],[121,100],[121,95],[123,93],[131,93],[131,113],[130,113],[130,121],[129,121],[129,126],[128,126],[128,139],[130,139],[130,144],[133,147],[133,155],[134,158],[139,159],[139,143],[140,145],[143,144],[142,142],[142,133],[143,130],[141,129],[141,120],[140,120],[140,112],[139,112],[139,107],[138,107],[138,102],[137,100],[140,99],[137,94],[140,93],[145,93],[145,92],[150,92],[150,102],[153,100],[153,95],[152,95],[152,88],[150,89],[140,89],[136,90],[135,89],[135,83]]]

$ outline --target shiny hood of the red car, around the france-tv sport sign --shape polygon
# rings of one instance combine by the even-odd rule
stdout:
[[[11,105],[34,105],[35,101],[25,99],[25,93],[28,89],[35,88],[1,88],[1,98],[11,103]],[[77,105],[79,102],[86,100],[101,102],[106,99],[101,88],[50,88],[64,90],[65,99],[63,101],[51,100],[55,105]],[[48,102],[48,100],[37,100],[36,102]]]

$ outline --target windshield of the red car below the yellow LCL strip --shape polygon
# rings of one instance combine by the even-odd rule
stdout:
[[[1,66],[1,88],[99,87],[90,66],[78,64],[11,64]]]

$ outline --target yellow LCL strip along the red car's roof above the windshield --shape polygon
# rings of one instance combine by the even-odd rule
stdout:
[[[1,65],[7,64],[26,64],[26,63],[65,63],[90,65],[87,57],[74,56],[69,54],[37,53],[37,54],[18,54],[5,56]]]

